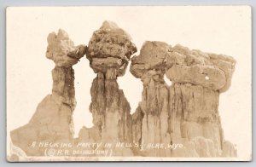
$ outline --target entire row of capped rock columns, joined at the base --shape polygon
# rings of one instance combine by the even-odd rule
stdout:
[[[15,149],[21,148],[19,155],[46,156],[40,143],[65,142],[72,144],[67,148],[71,157],[99,156],[96,152],[83,155],[84,148],[76,147],[79,143],[111,143],[115,146],[108,155],[112,156],[236,156],[233,144],[224,140],[218,114],[219,94],[230,88],[236,65],[232,57],[147,41],[140,55],[131,58],[137,48],[130,35],[110,21],[93,33],[88,48],[74,46],[63,30],[50,33],[47,40],[46,57],[55,62],[52,94],[40,102],[28,124],[11,131]],[[76,100],[72,66],[85,53],[96,73],[89,107],[94,126],[83,127],[79,137],[73,138]],[[133,114],[117,83],[130,59],[130,72],[143,82],[142,101]],[[165,83],[165,75],[171,86]],[[117,143],[131,147],[116,147]]]

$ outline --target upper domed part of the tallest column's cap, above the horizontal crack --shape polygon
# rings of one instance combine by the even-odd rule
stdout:
[[[129,60],[137,52],[131,36],[112,21],[104,21],[101,28],[93,33],[87,50],[87,58],[116,57]]]

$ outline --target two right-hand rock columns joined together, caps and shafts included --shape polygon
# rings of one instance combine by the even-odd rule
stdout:
[[[133,138],[183,145],[150,152],[153,156],[236,156],[233,145],[224,141],[218,115],[219,93],[229,89],[235,64],[226,55],[145,42],[140,55],[131,59],[131,73],[143,81],[143,100],[132,115]]]

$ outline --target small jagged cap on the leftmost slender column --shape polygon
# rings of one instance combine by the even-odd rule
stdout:
[[[59,29],[58,34],[55,32],[49,33],[47,41],[46,57],[53,60],[56,66],[73,66],[78,63],[79,59],[83,57],[86,52],[86,46],[74,46],[67,32],[61,29]]]

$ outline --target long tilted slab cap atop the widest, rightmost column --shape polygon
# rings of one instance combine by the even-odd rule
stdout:
[[[227,55],[215,55],[190,50],[177,44],[166,56],[166,77],[174,83],[194,83],[224,92],[229,89],[236,60]]]

